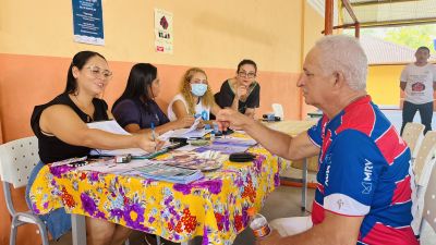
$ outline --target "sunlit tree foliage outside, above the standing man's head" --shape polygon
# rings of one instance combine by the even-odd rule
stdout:
[[[354,29],[347,29],[344,33],[354,35]],[[375,36],[397,45],[403,45],[413,50],[421,46],[426,46],[432,51],[436,50],[434,44],[434,39],[436,39],[436,24],[362,28],[361,34]]]

